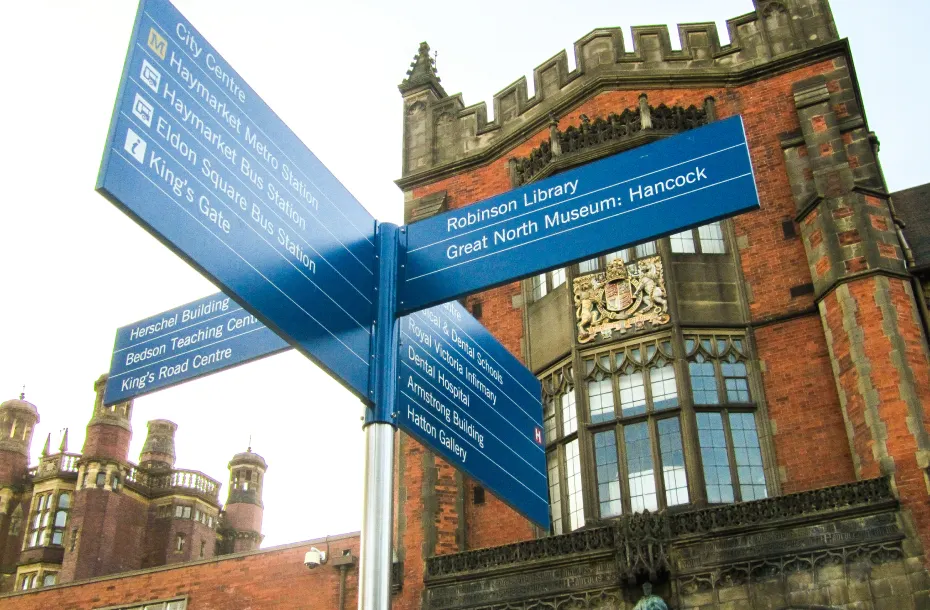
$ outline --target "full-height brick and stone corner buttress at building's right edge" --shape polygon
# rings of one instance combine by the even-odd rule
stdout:
[[[795,84],[785,157],[856,475],[892,478],[926,546],[930,358],[869,134],[839,101],[848,81],[841,65]]]

